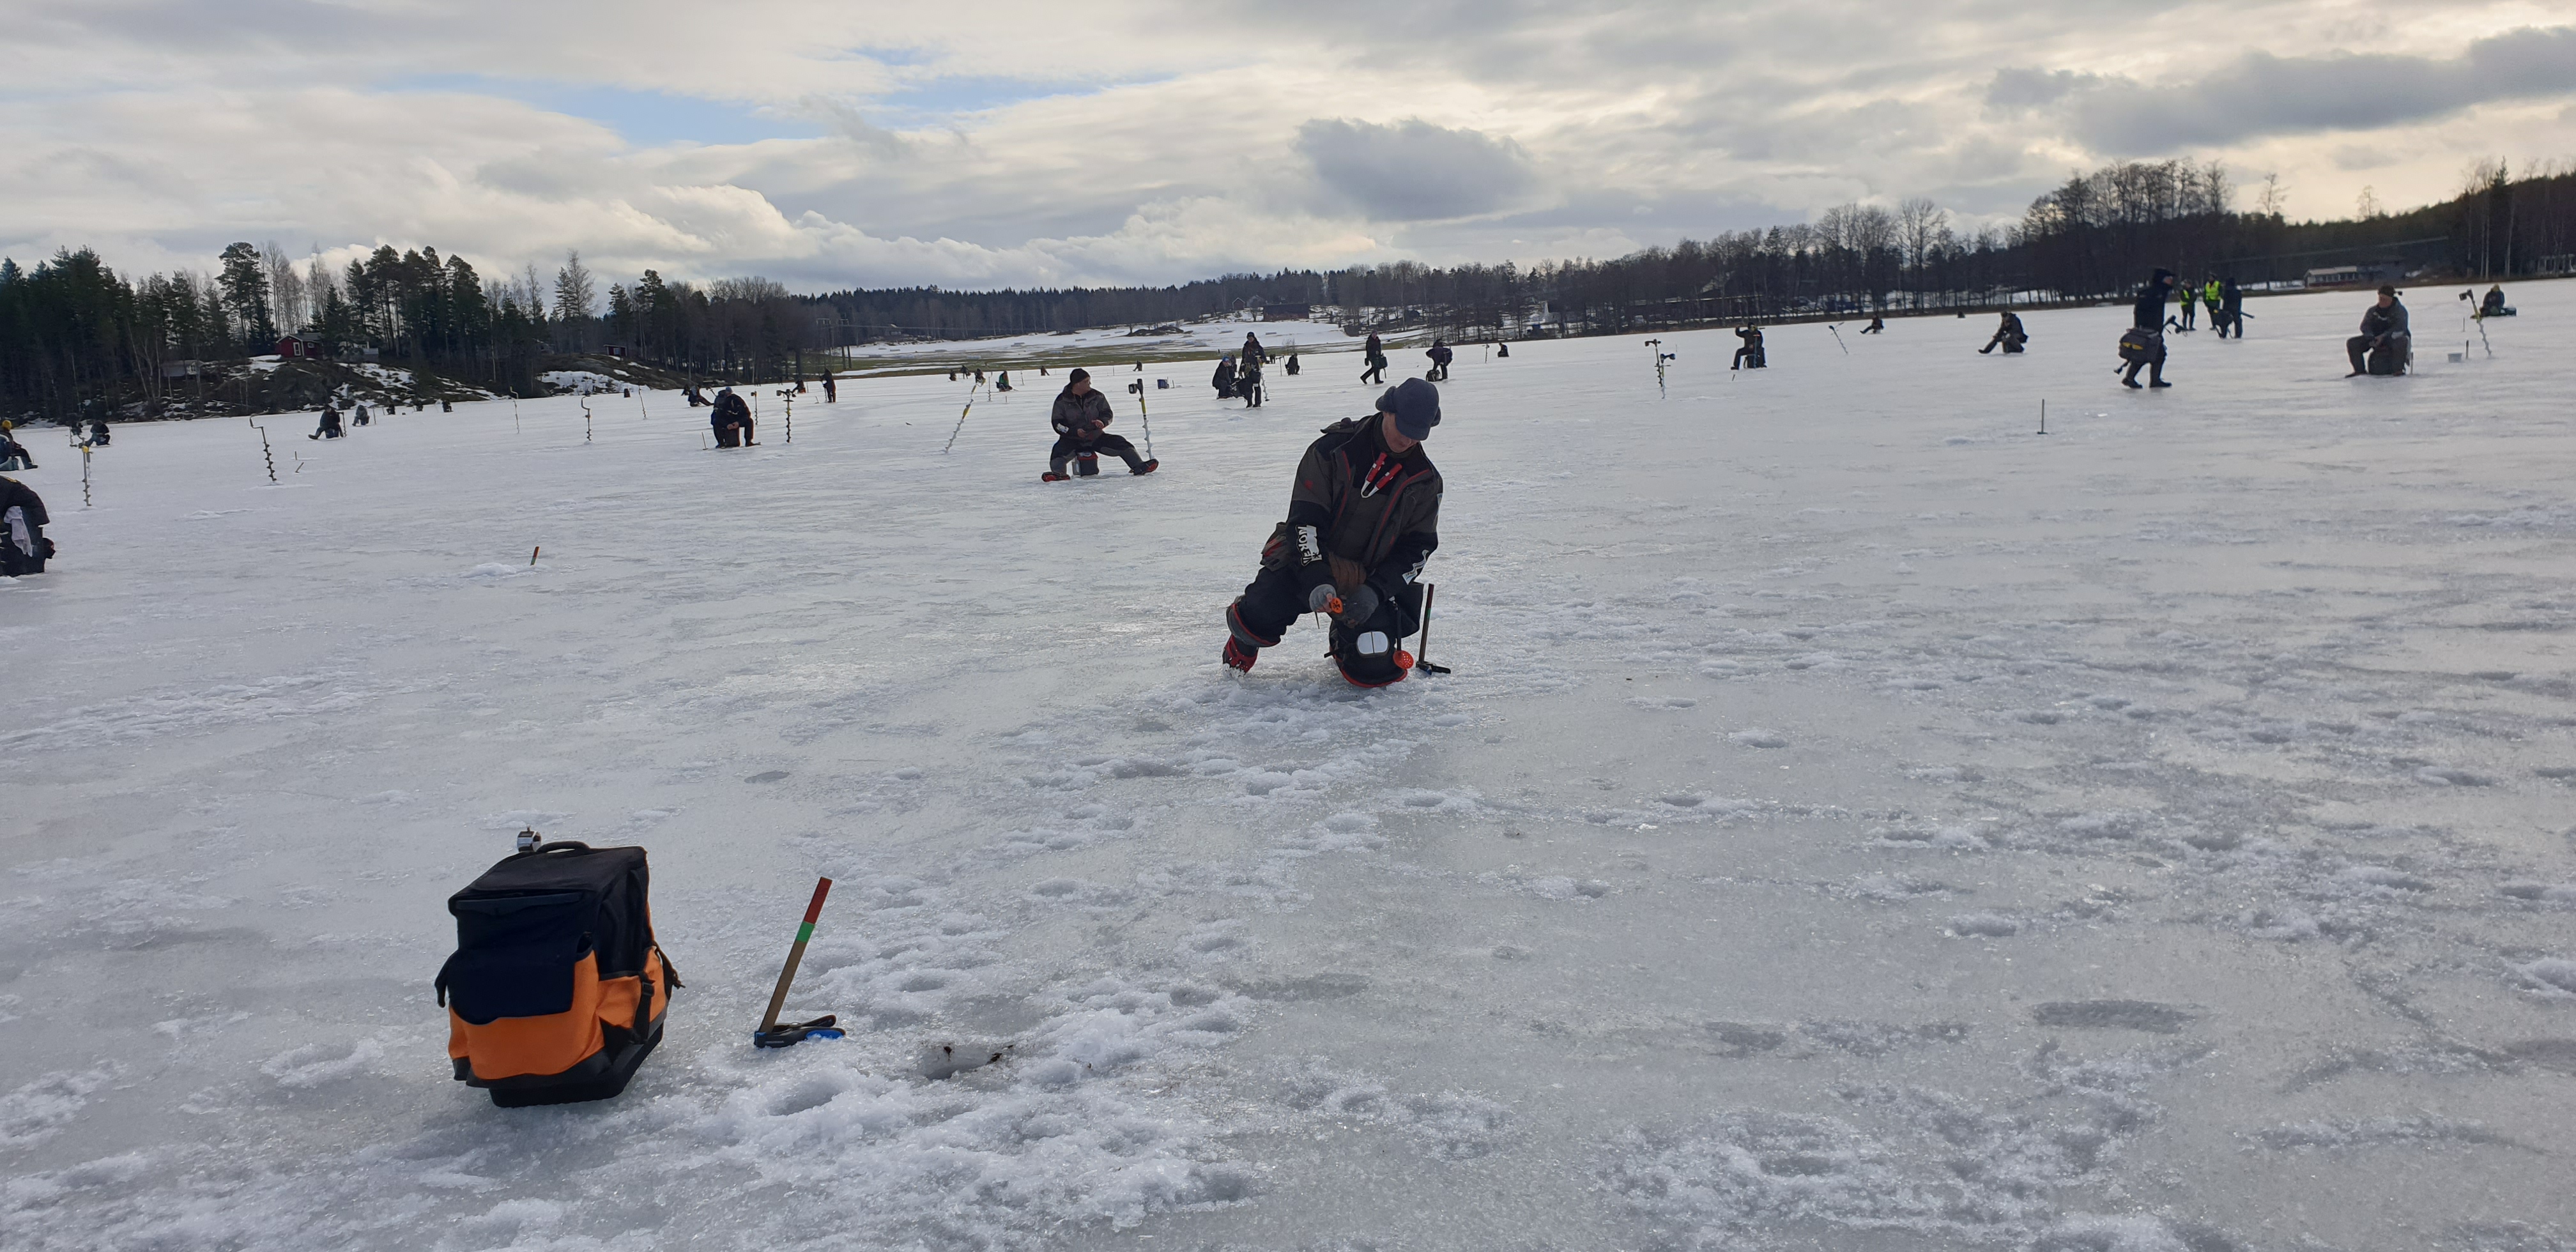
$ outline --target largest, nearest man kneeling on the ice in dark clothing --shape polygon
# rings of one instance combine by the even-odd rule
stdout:
[[[1440,546],[1440,469],[1422,441],[1440,425],[1440,389],[1404,379],[1378,412],[1324,428],[1288,492],[1288,520],[1262,546],[1262,572],[1226,608],[1226,665],[1252,670],[1303,613],[1332,613],[1332,659],[1360,688],[1401,683],[1414,659],[1396,641],[1422,629],[1422,562]]]

